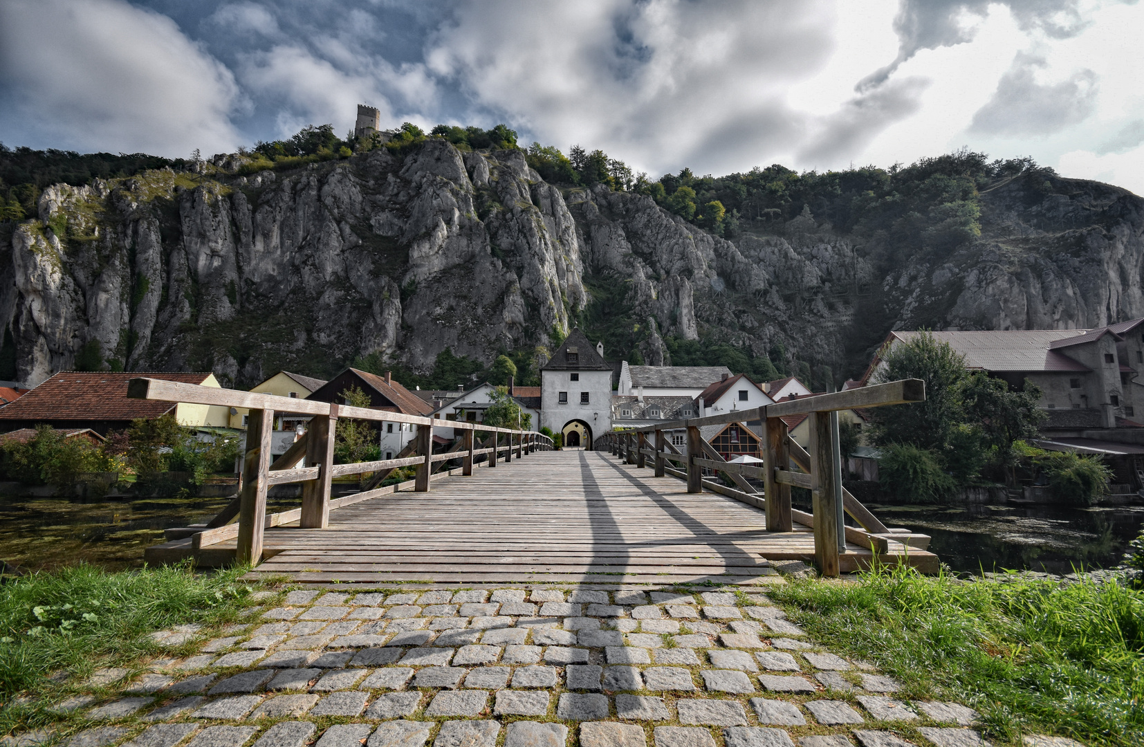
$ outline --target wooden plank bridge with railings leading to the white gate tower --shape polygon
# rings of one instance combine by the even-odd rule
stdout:
[[[774,484],[810,487],[816,496],[812,515],[791,508],[788,487],[771,488],[773,498],[768,502],[744,478],[755,476],[755,468],[726,464],[709,445],[702,447],[698,426],[708,420],[723,422],[720,416],[609,434],[597,440],[596,451],[553,451],[540,434],[479,423],[448,421],[446,426],[398,413],[150,379],[134,380],[130,392],[167,402],[251,408],[248,438],[254,447],[245,458],[244,474],[249,477],[239,496],[207,526],[189,527],[186,537],[149,548],[150,563],[184,557],[202,565],[261,561],[257,573],[288,574],[299,581],[373,585],[749,583],[774,574],[769,561],[787,559],[817,562],[829,575],[873,563],[937,570],[937,556],[909,547],[921,543],[919,535],[882,526],[844,491],[845,509],[860,517],[864,529],[844,527],[844,538],[835,539],[842,524],[835,517],[835,504],[821,498],[834,487],[824,483],[820,472],[825,470],[815,470],[817,463],[831,459],[829,447],[824,446],[817,458],[813,450],[800,453],[797,445],[773,427],[771,439],[764,443],[793,450],[787,454],[793,466],[809,468],[805,474],[789,469],[789,464],[778,469],[785,475],[772,470]],[[799,405],[825,413],[843,399],[853,399],[851,392],[840,394],[850,397],[812,397]],[[867,388],[860,406],[913,402],[921,396],[915,384],[895,382]],[[313,419],[303,439],[271,464],[269,428],[278,408],[304,412]],[[779,414],[789,413],[784,410]],[[736,415],[742,420],[749,413]],[[331,464],[331,434],[339,418],[416,424],[415,447],[394,460]],[[765,413],[763,419],[771,422]],[[452,450],[432,453],[434,426],[460,430]],[[686,428],[689,438],[698,439],[689,442],[690,459],[664,438],[665,430],[676,427]],[[657,450],[646,447],[649,434],[659,445]],[[704,454],[714,459],[704,459]],[[302,458],[309,467],[296,468]],[[451,463],[458,467],[447,469]],[[386,487],[367,484],[360,493],[331,498],[331,479],[336,475],[374,472],[376,483],[404,466],[416,468],[415,479]],[[734,488],[704,478],[704,471],[720,470],[736,478]],[[757,470],[760,477],[763,472]],[[286,482],[303,484],[302,506],[265,514],[267,487]],[[831,516],[820,520],[827,510]],[[826,526],[829,529],[824,530]]]

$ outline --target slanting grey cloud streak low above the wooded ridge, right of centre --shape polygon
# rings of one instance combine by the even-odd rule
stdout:
[[[860,153],[889,125],[921,109],[924,78],[893,80],[848,101],[818,122],[817,132],[799,150],[799,160],[812,165],[837,164]]]

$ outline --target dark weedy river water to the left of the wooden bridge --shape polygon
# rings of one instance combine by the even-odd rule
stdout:
[[[143,565],[143,548],[162,542],[162,530],[202,523],[229,498],[145,498],[72,502],[0,496],[0,561],[37,570],[86,561],[111,570]],[[299,500],[270,500],[270,510]]]

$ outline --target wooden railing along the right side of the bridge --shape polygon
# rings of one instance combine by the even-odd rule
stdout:
[[[925,384],[920,379],[905,379],[884,384],[848,389],[828,395],[815,395],[789,399],[752,410],[740,410],[706,418],[667,421],[654,426],[614,430],[599,440],[603,447],[621,456],[637,468],[654,460],[656,476],[673,475],[688,480],[688,492],[699,493],[704,487],[766,511],[766,529],[771,532],[789,532],[794,523],[810,526],[815,531],[815,563],[824,575],[839,574],[839,553],[845,542],[851,542],[885,554],[890,542],[904,546],[928,543],[929,538],[912,534],[905,530],[890,530],[866,509],[842,486],[841,460],[834,437],[832,413],[856,407],[882,407],[925,399]],[[810,419],[810,451],[795,443],[781,420],[787,415],[808,415]],[[760,421],[762,434],[760,447],[763,452],[762,467],[731,464],[702,438],[702,426],[722,426]],[[686,431],[686,452],[681,452],[667,439],[667,431]],[[654,437],[653,447],[648,447],[648,437]],[[599,443],[599,442],[597,442]],[[675,462],[684,469],[673,469],[667,462]],[[794,471],[797,467],[802,471]],[[705,480],[704,470],[726,475],[736,485],[726,487],[716,480]],[[747,482],[747,477],[763,482],[763,492]],[[811,493],[812,514],[799,511],[791,506],[791,487],[805,487]],[[843,510],[861,529],[847,526]]]

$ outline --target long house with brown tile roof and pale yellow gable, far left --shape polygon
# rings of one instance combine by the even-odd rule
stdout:
[[[230,412],[216,405],[129,399],[127,382],[140,376],[219,387],[212,373],[61,371],[43,383],[0,407],[0,432],[35,428],[90,428],[101,436],[129,428],[133,420],[174,413],[180,424],[198,429],[227,429]]]

